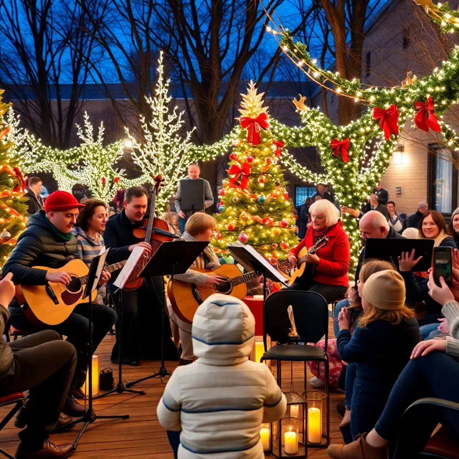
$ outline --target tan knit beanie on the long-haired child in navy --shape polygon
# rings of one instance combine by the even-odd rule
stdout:
[[[371,274],[364,283],[362,296],[378,309],[402,309],[405,305],[405,282],[397,271],[385,269]]]

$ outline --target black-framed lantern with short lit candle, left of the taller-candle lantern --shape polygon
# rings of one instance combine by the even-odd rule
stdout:
[[[276,458],[306,458],[305,430],[306,401],[297,392],[286,392],[287,409],[284,417],[271,424],[273,431],[272,453]]]

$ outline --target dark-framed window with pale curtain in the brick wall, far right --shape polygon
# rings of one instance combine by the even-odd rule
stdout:
[[[438,144],[429,145],[429,151],[429,207],[450,217],[457,207],[458,171],[451,153],[446,154]]]

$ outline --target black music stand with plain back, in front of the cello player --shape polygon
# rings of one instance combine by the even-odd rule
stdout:
[[[184,274],[208,245],[208,241],[185,241],[183,239],[163,242],[159,246],[158,250],[152,255],[150,261],[140,273],[139,277],[174,276],[174,274]],[[156,378],[157,376],[164,378],[172,374],[164,365],[164,321],[166,319],[167,305],[165,302],[163,281],[161,285],[161,367],[157,373],[154,373],[153,375],[128,382],[126,387],[132,387],[134,384],[151,378]]]

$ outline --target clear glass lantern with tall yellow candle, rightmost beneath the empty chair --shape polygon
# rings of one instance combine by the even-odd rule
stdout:
[[[326,448],[330,444],[330,417],[328,396],[325,392],[302,393],[307,403],[307,444],[311,448]]]

